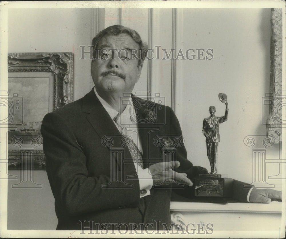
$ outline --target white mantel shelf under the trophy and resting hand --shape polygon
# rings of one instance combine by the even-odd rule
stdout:
[[[170,211],[178,212],[251,212],[251,213],[282,213],[281,202],[270,204],[231,202],[218,204],[209,202],[171,202]]]

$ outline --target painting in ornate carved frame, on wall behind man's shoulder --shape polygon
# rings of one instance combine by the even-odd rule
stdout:
[[[8,169],[43,170],[41,123],[73,101],[73,53],[8,53]]]

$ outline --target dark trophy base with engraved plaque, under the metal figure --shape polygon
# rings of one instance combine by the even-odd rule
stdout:
[[[194,179],[195,198],[231,198],[233,196],[233,179],[222,178],[221,174],[199,174]]]

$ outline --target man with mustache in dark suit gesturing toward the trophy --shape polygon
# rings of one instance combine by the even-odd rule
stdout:
[[[187,160],[172,109],[131,94],[148,48],[139,34],[115,25],[92,43],[95,88],[41,127],[57,229],[162,229],[171,224],[171,184],[190,198],[192,179],[207,171]],[[235,187],[247,201],[249,190]]]

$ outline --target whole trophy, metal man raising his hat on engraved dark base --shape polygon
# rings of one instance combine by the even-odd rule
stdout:
[[[210,161],[210,173],[199,174],[194,182],[196,198],[204,198],[209,202],[215,201],[215,198],[230,198],[233,195],[233,179],[222,178],[221,174],[217,174],[217,152],[220,142],[219,125],[227,121],[229,111],[227,95],[219,93],[219,99],[225,104],[225,115],[215,116],[215,106],[210,106],[210,116],[205,118],[202,123],[202,133],[206,137],[206,152]]]

